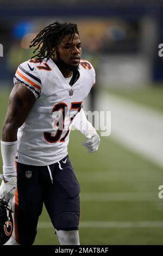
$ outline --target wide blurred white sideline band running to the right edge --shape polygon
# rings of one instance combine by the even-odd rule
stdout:
[[[107,93],[97,102],[99,111],[111,111],[111,137],[162,168],[163,114]]]

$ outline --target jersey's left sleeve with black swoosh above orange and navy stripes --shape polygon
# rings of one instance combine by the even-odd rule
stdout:
[[[30,63],[30,60],[20,64],[14,76],[14,84],[22,83],[26,86],[38,99],[41,95],[41,79],[36,66]]]

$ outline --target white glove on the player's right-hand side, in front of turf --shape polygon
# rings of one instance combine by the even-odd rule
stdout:
[[[95,130],[86,131],[85,137],[87,138],[86,142],[83,142],[82,145],[87,148],[87,153],[93,153],[98,150],[100,138]]]

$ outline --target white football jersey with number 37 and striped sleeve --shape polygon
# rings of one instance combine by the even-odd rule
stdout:
[[[47,166],[67,155],[70,123],[95,84],[95,70],[89,62],[80,60],[78,70],[80,76],[70,86],[52,59],[31,59],[18,66],[14,84],[26,86],[36,101],[18,129],[17,162]],[[59,113],[62,130],[58,129]]]

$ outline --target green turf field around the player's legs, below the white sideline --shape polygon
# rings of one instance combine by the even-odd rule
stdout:
[[[154,107],[158,102],[156,95],[161,99],[163,90],[150,95]],[[129,95],[127,97],[132,100]],[[146,97],[144,101],[146,104]],[[0,102],[2,127],[8,93],[1,92]],[[69,155],[82,191],[80,243],[163,245],[163,199],[158,198],[158,187],[163,185],[163,169],[131,153],[111,137],[101,138],[97,153],[86,154],[81,145],[83,139],[79,131],[72,131],[69,145]],[[57,236],[43,209],[35,245],[54,244],[58,245]]]

